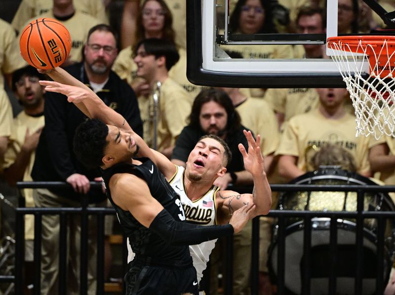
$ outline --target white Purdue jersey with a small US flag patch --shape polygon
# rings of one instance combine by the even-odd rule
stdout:
[[[184,187],[184,167],[176,166],[177,172],[169,181],[171,187],[180,195],[181,203],[184,207],[187,222],[200,225],[217,224],[215,216],[215,193],[219,190],[218,186],[211,186],[207,193],[196,201],[191,201]],[[198,245],[189,246],[194,266],[197,272],[197,281],[200,282],[202,272],[207,266],[207,261],[211,251],[214,249],[215,240],[203,242]]]

